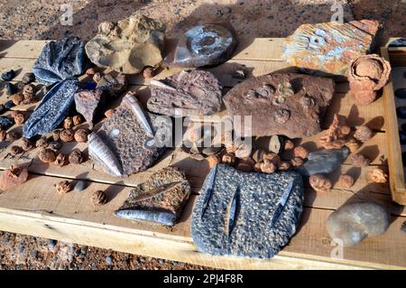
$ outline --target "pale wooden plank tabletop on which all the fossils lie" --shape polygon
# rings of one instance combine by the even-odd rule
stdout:
[[[15,80],[21,79],[24,72],[32,69],[32,64],[42,51],[44,43],[1,41],[0,71],[11,68],[19,70],[20,73]],[[240,81],[230,77],[230,70],[237,65],[236,63],[245,65],[247,70],[251,71],[248,77],[274,70],[295,70],[281,60],[281,43],[282,39],[240,42],[232,60],[210,70],[226,88],[231,88]],[[173,71],[162,70],[157,78],[169,75]],[[148,80],[134,76],[130,79],[130,83],[130,88],[138,91],[141,98],[148,97]],[[166,153],[160,162],[148,171],[131,175],[123,180],[94,170],[90,162],[60,168],[40,163],[35,159],[35,153],[19,160],[6,157],[0,160],[1,170],[18,161],[29,165],[32,177],[23,185],[0,194],[0,230],[226,269],[405,268],[406,235],[401,232],[401,224],[406,220],[406,210],[392,203],[388,185],[372,184],[367,180],[367,173],[375,166],[386,166],[383,99],[378,99],[368,107],[357,108],[353,99],[346,95],[347,88],[347,83],[338,83],[337,93],[331,107],[328,108],[323,125],[327,127],[333,115],[339,113],[348,116],[349,124],[353,127],[365,123],[373,127],[376,131],[374,137],[360,148],[365,156],[373,160],[372,165],[356,169],[347,160],[339,171],[331,175],[333,181],[337,181],[343,172],[355,176],[355,185],[351,190],[338,189],[336,186],[328,194],[316,194],[313,190],[306,190],[300,228],[291,239],[291,243],[271,260],[214,257],[198,252],[190,237],[189,221],[193,203],[208,172],[208,165],[192,160],[178,150]],[[5,99],[5,95],[1,96],[0,103]],[[16,109],[30,111],[33,107],[16,107]],[[298,142],[314,150],[319,136],[299,139]],[[67,144],[63,149],[68,152],[74,146],[75,144]],[[86,144],[78,144],[78,147],[86,149]],[[6,153],[7,148],[0,154],[0,158]],[[176,226],[164,228],[113,216],[113,211],[121,206],[131,186],[145,181],[153,171],[169,164],[183,168],[193,188],[193,195]],[[86,180],[89,184],[88,189],[70,192],[60,197],[53,185],[64,179]],[[94,190],[106,190],[110,199],[100,209],[94,209],[90,202],[90,195]],[[368,238],[358,246],[345,248],[342,259],[331,256],[332,252],[334,254],[333,249],[337,247],[332,246],[328,237],[326,219],[342,204],[357,200],[371,200],[385,205],[391,211],[392,224],[383,236]]]

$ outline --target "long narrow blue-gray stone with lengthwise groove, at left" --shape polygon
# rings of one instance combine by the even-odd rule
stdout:
[[[41,104],[23,125],[23,136],[31,138],[54,130],[68,116],[78,90],[77,79],[67,79],[57,85],[42,98]]]

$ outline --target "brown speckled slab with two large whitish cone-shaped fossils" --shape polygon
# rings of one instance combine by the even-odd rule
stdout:
[[[116,177],[144,171],[165,151],[155,144],[152,135],[164,125],[154,114],[144,113],[129,92],[114,116],[88,136],[89,157]]]

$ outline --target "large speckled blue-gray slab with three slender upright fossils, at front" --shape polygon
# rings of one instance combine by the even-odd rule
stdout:
[[[286,190],[290,193],[282,198]],[[218,164],[217,171],[214,167],[208,173],[193,208],[193,241],[210,255],[271,258],[295,234],[303,194],[303,182],[296,172],[239,172]],[[274,218],[275,214],[279,217]]]

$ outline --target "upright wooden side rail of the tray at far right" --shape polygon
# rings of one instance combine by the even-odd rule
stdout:
[[[385,48],[381,49],[381,54],[384,59],[389,60],[389,52]],[[383,99],[383,111],[386,119],[385,125],[388,132],[386,139],[387,146],[389,147],[387,151],[392,200],[401,205],[406,205],[405,176],[401,162],[401,141],[398,132],[392,77],[389,79],[389,83],[383,88]]]

